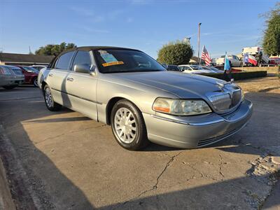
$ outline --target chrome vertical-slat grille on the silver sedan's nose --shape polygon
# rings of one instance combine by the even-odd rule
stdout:
[[[232,99],[230,99],[230,94],[228,93],[219,93],[212,94],[209,96],[211,103],[214,106],[214,109],[217,111],[226,111],[230,109],[230,105],[232,104]]]

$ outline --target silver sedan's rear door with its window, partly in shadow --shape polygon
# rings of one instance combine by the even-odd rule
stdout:
[[[66,52],[60,55],[55,67],[50,70],[47,77],[47,83],[52,90],[52,97],[55,102],[63,106],[71,107],[71,102],[66,91],[66,77],[70,73],[70,64],[75,51]]]

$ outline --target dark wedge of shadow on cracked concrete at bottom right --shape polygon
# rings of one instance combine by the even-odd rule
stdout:
[[[248,175],[238,179],[200,184],[199,186],[195,186],[194,183],[195,181],[199,182],[201,178],[193,177],[186,179],[190,188],[170,193],[160,193],[159,183],[158,188],[151,188],[140,196],[136,195],[132,200],[99,209],[262,209],[267,195],[270,193],[270,188],[267,188],[267,185],[263,183],[269,179],[268,176],[277,176],[277,174]],[[158,193],[156,193],[157,190]],[[269,208],[279,204],[280,200],[274,200],[266,203],[265,206]]]

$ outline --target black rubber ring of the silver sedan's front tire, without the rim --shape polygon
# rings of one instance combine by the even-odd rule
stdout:
[[[118,137],[118,134],[116,132],[115,129],[115,115],[116,112],[118,111],[118,109],[120,108],[126,108],[129,109],[135,118],[135,121],[137,123],[137,134],[136,137],[134,139],[134,141],[132,141],[130,144],[127,144],[123,141],[121,141]],[[116,141],[118,142],[118,144],[120,144],[120,146],[123,146],[123,148],[126,148],[128,150],[139,150],[140,148],[143,148],[144,146],[146,146],[148,139],[147,139],[147,132],[146,132],[146,125],[144,122],[144,118],[142,116],[141,111],[137,108],[137,106],[135,106],[134,104],[132,104],[131,102],[127,101],[127,100],[120,100],[118,101],[115,106],[113,106],[112,112],[111,112],[111,128],[113,131],[113,135],[116,139]]]

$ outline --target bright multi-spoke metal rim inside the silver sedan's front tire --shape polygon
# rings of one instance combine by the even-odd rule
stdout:
[[[125,144],[134,141],[137,134],[137,122],[134,114],[126,108],[120,108],[114,116],[114,127],[118,138]]]

